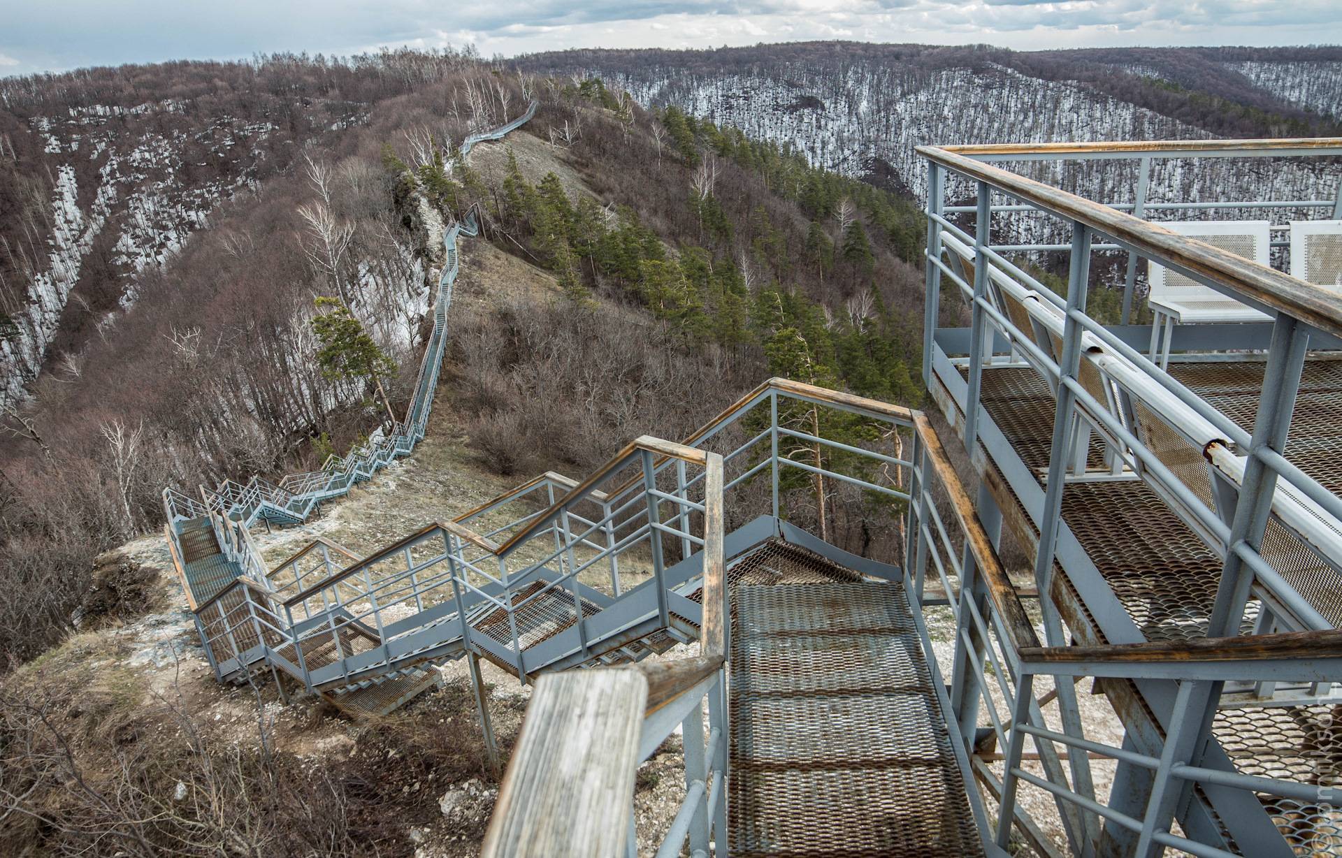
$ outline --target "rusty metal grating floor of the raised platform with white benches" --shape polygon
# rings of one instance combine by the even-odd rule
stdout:
[[[1247,430],[1261,393],[1261,363],[1180,363],[1170,373],[1197,390]],[[1037,475],[1048,464],[1053,400],[1028,369],[984,371],[984,406],[1021,460]],[[1342,362],[1311,361],[1300,383],[1296,420],[1308,436],[1295,437],[1287,458],[1334,492],[1342,493]],[[1094,464],[1095,446],[1091,453]],[[1036,476],[1037,479],[1037,476]],[[998,483],[1005,485],[1000,477]],[[1019,500],[1016,501],[1019,503]],[[1063,520],[1147,639],[1205,635],[1221,560],[1145,484],[1139,481],[1070,484]],[[1283,575],[1326,617],[1342,617],[1337,575],[1298,554],[1294,538],[1275,523],[1266,550]],[[1275,540],[1275,542],[1274,542]],[[1274,546],[1276,546],[1274,548]],[[1064,575],[1059,585],[1070,586]],[[1080,603],[1080,599],[1074,601]],[[1251,602],[1241,633],[1252,630]],[[1103,631],[1092,630],[1103,641]],[[1264,798],[1274,823],[1296,854],[1342,854],[1342,708],[1256,707],[1217,713],[1213,736],[1240,774],[1318,783],[1317,803]]]

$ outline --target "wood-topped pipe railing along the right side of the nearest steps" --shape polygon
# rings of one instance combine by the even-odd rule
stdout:
[[[962,737],[965,751],[974,753],[978,708],[966,705],[966,700],[970,696],[976,697],[986,709],[997,745],[1007,748],[1007,774],[997,786],[998,846],[1007,847],[1012,824],[1017,824],[1024,837],[1032,837],[1033,823],[1016,804],[1020,782],[1052,794],[1060,802],[1064,824],[1068,820],[1068,811],[1072,811],[1070,835],[1075,838],[1074,849],[1078,849],[1076,839],[1082,839],[1078,834],[1080,822],[1076,811],[1086,811],[1131,830],[1138,837],[1138,855],[1154,854],[1153,850],[1166,846],[1196,855],[1232,854],[1169,833],[1174,799],[1181,790],[1188,788],[1186,784],[1216,784],[1255,795],[1295,799],[1308,796],[1311,802],[1321,800],[1319,784],[1284,778],[1251,778],[1190,764],[1188,760],[1192,753],[1186,745],[1186,736],[1180,735],[1180,729],[1185,728],[1181,716],[1194,705],[1192,689],[1201,681],[1342,680],[1342,631],[1256,634],[1180,644],[1041,646],[1033,623],[1020,602],[1017,589],[997,556],[993,539],[960,484],[935,432],[921,416],[915,418],[915,426],[917,489],[914,503],[910,504],[909,530],[918,536],[907,548],[906,574],[913,576],[913,602],[921,625],[925,610],[923,575],[929,559],[935,562],[943,591],[947,594],[958,591],[958,598],[951,598],[949,605],[956,621],[957,652],[950,677],[951,708],[947,709],[947,717],[951,721],[951,735]],[[953,513],[956,530],[950,532],[938,509],[934,487],[939,489]],[[961,550],[964,559],[957,560]],[[956,585],[951,585],[947,567],[958,579]],[[1047,598],[1045,594],[1041,595]],[[923,637],[927,652],[931,652],[930,638],[926,634]],[[1040,702],[1033,697],[1036,676],[1053,677],[1055,688],[1070,684],[1074,677],[1086,676],[1178,681],[1178,701],[1170,719],[1172,727],[1162,739],[1165,752],[1159,756],[1142,755],[1127,748],[1087,740],[1078,731],[1057,732],[1048,728]],[[965,723],[966,717],[973,720]],[[1043,778],[1021,768],[1025,736],[1035,739],[1044,765]],[[1083,756],[1076,753],[1079,751],[1154,771],[1155,787],[1145,815],[1135,818],[1098,802],[1092,791],[1075,786],[1075,768],[1072,783],[1068,783],[1057,744],[1074,749],[1071,760]]]

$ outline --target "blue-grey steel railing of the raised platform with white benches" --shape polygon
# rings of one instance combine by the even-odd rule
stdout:
[[[1080,147],[1080,154],[1095,158],[1159,158],[1333,156],[1342,151],[1342,141],[1307,143],[1276,146],[1264,141],[1201,141],[1189,146],[1086,145]],[[990,461],[1011,473],[1019,473],[1012,471],[1017,465],[1011,463],[1020,461],[1011,441],[996,426],[990,432],[985,430],[988,417],[981,400],[985,374],[1024,371],[1028,367],[1053,394],[1047,469],[1031,475],[1037,484],[1019,476],[1008,477],[1008,485],[1013,491],[1028,495],[1028,500],[1021,504],[1039,532],[1032,583],[1040,594],[1047,642],[1052,648],[1067,644],[1053,598],[1055,564],[1062,563],[1076,574],[1086,574],[1080,567],[1088,562],[1078,554],[1075,543],[1062,542],[1064,488],[1088,480],[1142,480],[1221,560],[1215,603],[1206,618],[1206,638],[1198,641],[1198,645],[1216,642],[1229,648],[1231,641],[1237,639],[1263,644],[1272,637],[1267,633],[1276,630],[1308,633],[1321,646],[1327,645],[1335,634],[1333,629],[1338,621],[1337,587],[1321,590],[1310,585],[1308,576],[1318,571],[1342,580],[1337,578],[1342,575],[1342,554],[1338,552],[1342,546],[1342,499],[1283,453],[1288,432],[1294,430],[1296,437],[1306,433],[1307,437],[1311,429],[1303,420],[1292,426],[1299,379],[1310,349],[1342,347],[1338,341],[1338,334],[1342,332],[1342,307],[1329,290],[1169,232],[1159,224],[1119,210],[1123,206],[1083,200],[980,160],[1075,154],[1071,151],[1075,146],[1045,146],[1033,153],[1025,151],[1027,149],[1031,147],[919,149],[930,164],[925,379],[934,395],[946,404],[947,412],[964,414],[964,424],[957,430],[966,449],[977,454],[982,448]],[[977,200],[973,206],[945,204],[949,177],[954,177],[961,186],[976,189]],[[1312,205],[1311,201],[1304,202]],[[1221,201],[1206,204],[1208,208],[1213,205],[1235,208],[1235,204]],[[974,212],[973,227],[966,229],[951,216],[964,216],[970,209]],[[1025,269],[1024,260],[1016,255],[1017,251],[1049,251],[1053,245],[994,245],[992,241],[994,214],[1012,216],[1025,209],[1055,219],[1071,231],[1071,243],[1062,245],[1070,251],[1066,295],[1056,294],[1032,276]],[[1133,210],[1141,213],[1142,208],[1137,205]],[[1180,381],[1176,371],[1157,365],[1134,347],[1138,331],[1133,326],[1106,327],[1087,312],[1087,292],[1095,288],[1091,286],[1090,272],[1092,253],[1108,247],[1130,253],[1125,282],[1129,292],[1125,320],[1131,306],[1133,271],[1138,260],[1164,265],[1274,316],[1271,322],[1261,324],[1219,327],[1215,338],[1196,331],[1184,336],[1184,349],[1194,351],[1188,359],[1223,361],[1224,366],[1231,367],[1235,361],[1251,358],[1243,354],[1244,350],[1260,355],[1261,395],[1251,428],[1241,426]],[[970,310],[968,331],[938,330],[943,284],[966,299]],[[1231,350],[1231,354],[1196,354],[1210,350]],[[1236,354],[1235,350],[1240,353]],[[1100,469],[1088,467],[1086,461],[1092,433],[1099,436],[1106,449],[1104,467]],[[923,509],[925,505],[919,503],[918,508]],[[988,508],[997,515],[994,505],[989,504]],[[1121,513],[1119,509],[1110,512]],[[951,560],[962,550],[947,547],[942,555],[931,552],[930,547],[935,540],[951,542],[935,516],[923,517],[919,528],[922,542],[917,550],[935,560],[933,566],[938,575],[954,576],[951,572],[956,572],[957,564]],[[1283,540],[1291,546],[1290,554],[1282,548]],[[1095,562],[1107,560],[1099,558]],[[961,554],[958,563],[973,578],[973,560]],[[1308,568],[1302,571],[1302,567]],[[1251,607],[1259,609],[1256,634],[1233,638]],[[1125,641],[1141,639],[1139,631],[1129,633],[1126,626],[1113,618],[1102,617],[1102,621],[1122,633]],[[996,661],[1002,664],[994,664],[989,657],[992,648],[985,644],[994,634],[986,627],[993,618],[986,615],[982,602],[972,601],[965,607],[961,599],[957,622],[960,649],[956,674],[961,678],[956,681],[962,682],[966,689],[960,702],[968,707],[961,711],[960,723],[962,729],[973,732],[977,729],[977,721],[972,717],[977,702],[972,701],[981,697],[973,689],[1000,685],[1004,676],[1013,677],[1012,682],[1016,682],[1017,674],[1049,673],[1053,668],[1033,672],[1013,669],[1007,664],[1011,661],[1011,648],[1004,648],[1000,641],[996,644]],[[1155,649],[1147,650],[1146,656],[1151,660],[1150,665],[1159,662]],[[1102,807],[1096,803],[1087,753],[1076,751],[1080,745],[1075,744],[1086,741],[1075,693],[1071,681],[1059,680],[1055,696],[1063,720],[1062,735],[1072,740],[1074,748],[1067,763],[1071,786],[1066,795],[1057,791],[1066,784],[1066,775],[1056,761],[1060,753],[1056,749],[1045,752],[1045,747],[1052,748],[1052,741],[1045,741],[1040,755],[1045,767],[1051,767],[1044,778],[1051,786],[1040,788],[1056,792],[1072,847],[1078,851],[1094,849],[1100,820],[1106,835],[1113,834],[1119,839],[1131,837],[1131,842],[1139,842],[1142,849],[1168,846],[1172,835],[1168,831],[1166,811],[1173,807],[1172,795],[1186,796],[1190,786],[1185,775],[1197,775],[1192,780],[1198,783],[1198,795],[1212,796],[1217,808],[1220,822],[1215,824],[1227,826],[1241,849],[1261,849],[1266,850],[1263,854],[1280,851],[1283,839],[1267,820],[1261,804],[1245,792],[1248,782],[1239,780],[1233,771],[1221,772],[1216,780],[1209,780],[1201,775],[1208,764],[1200,765],[1188,757],[1180,763],[1178,757],[1186,748],[1205,747],[1210,713],[1217,707],[1225,682],[1236,682],[1235,688],[1259,689],[1271,697],[1275,684],[1290,678],[1326,698],[1331,681],[1338,677],[1326,650],[1317,652],[1315,656],[1317,658],[1306,660],[1304,664],[1286,665],[1283,661],[1270,660],[1264,662],[1267,666],[1245,662],[1233,668],[1223,665],[1219,672],[1193,664],[1125,668],[1130,670],[1122,674],[1125,677],[1145,676],[1154,681],[1158,676],[1176,681],[1177,688],[1166,685],[1157,689],[1147,684],[1141,692],[1157,694],[1162,701],[1154,708],[1159,709],[1164,744],[1151,745],[1147,741],[1145,752],[1129,748],[1127,756],[1122,752],[1102,753],[1119,760],[1127,770],[1157,771],[1162,791],[1159,807],[1147,807],[1130,795],[1125,798],[1127,803],[1123,806]],[[976,658],[980,661],[976,662]],[[1002,666],[1007,666],[1005,672],[1001,670]],[[1100,670],[1094,664],[1090,666]],[[1267,676],[1276,678],[1263,678]],[[1020,701],[1021,705],[1031,698],[1028,693],[1008,693],[1011,689],[1007,688],[997,690],[1000,696]],[[1001,740],[1016,739],[1008,728],[1027,716],[1012,712],[1011,707],[1005,712],[1007,715],[993,715],[993,728]],[[1028,717],[1033,719],[1036,727],[1041,725],[1033,713]],[[1141,731],[1137,732],[1141,735]],[[965,740],[968,743],[969,737]],[[1150,752],[1153,748],[1157,753]],[[1150,763],[1164,756],[1164,748],[1174,748],[1170,753],[1176,761],[1157,770]],[[1100,753],[1095,748],[1091,752]],[[1053,763],[1048,763],[1049,759]],[[1012,778],[1016,776],[1012,772]],[[1039,779],[1037,775],[1031,778]],[[1004,778],[1005,780],[1011,778]],[[1172,780],[1178,783],[1172,786]],[[1225,786],[1231,780],[1236,786]],[[1209,784],[1213,783],[1220,786],[1212,788]],[[1300,784],[1287,782],[1260,786],[1264,787],[1261,792],[1283,798],[1295,796],[1303,790]],[[1184,807],[1186,806],[1185,803]],[[1019,807],[1008,810],[1020,811]],[[1139,822],[1137,830],[1133,830],[1134,820]],[[1181,818],[1181,822],[1185,829],[1196,823],[1192,818]],[[1115,834],[1119,830],[1130,831]],[[1184,843],[1180,849],[1193,854],[1224,854],[1217,851],[1225,845],[1219,838],[1220,833],[1202,829],[1198,830],[1196,843]],[[1212,845],[1217,842],[1221,845]]]

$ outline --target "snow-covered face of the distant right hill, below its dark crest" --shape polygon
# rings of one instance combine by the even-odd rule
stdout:
[[[1288,66],[1279,63],[1275,66]],[[1342,64],[1339,64],[1342,67]],[[1205,130],[1068,80],[1044,80],[1002,66],[914,71],[867,62],[843,67],[807,63],[760,64],[756,74],[678,74],[671,67],[590,68],[629,90],[644,105],[676,105],[746,134],[790,145],[816,165],[860,177],[872,158],[894,166],[915,196],[926,190],[927,165],[914,151],[926,143],[1051,141],[1194,139]],[[1263,72],[1267,74],[1267,72]],[[1310,88],[1303,71],[1280,76],[1292,97],[1330,91],[1342,80]],[[1319,75],[1322,79],[1325,75]],[[1342,98],[1342,95],[1335,95]],[[1135,161],[1052,161],[1004,165],[1092,200],[1131,201]],[[1308,161],[1155,161],[1150,201],[1331,198],[1335,165]],[[968,198],[968,182],[953,182],[951,197]],[[1272,217],[1286,210],[1223,212],[1221,217]],[[1056,220],[1012,219],[1012,241],[1053,241]]]

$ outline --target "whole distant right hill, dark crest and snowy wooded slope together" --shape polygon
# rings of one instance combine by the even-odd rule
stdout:
[[[1342,135],[1342,48],[1021,54],[825,42],[564,51],[519,63],[601,76],[646,105],[676,105],[915,196],[926,184],[914,153],[922,143]],[[1135,166],[1040,164],[1027,172],[1096,200],[1131,198],[1135,186]],[[1153,200],[1188,198],[1194,186],[1216,186],[1225,198],[1331,198],[1337,170],[1157,164]]]

